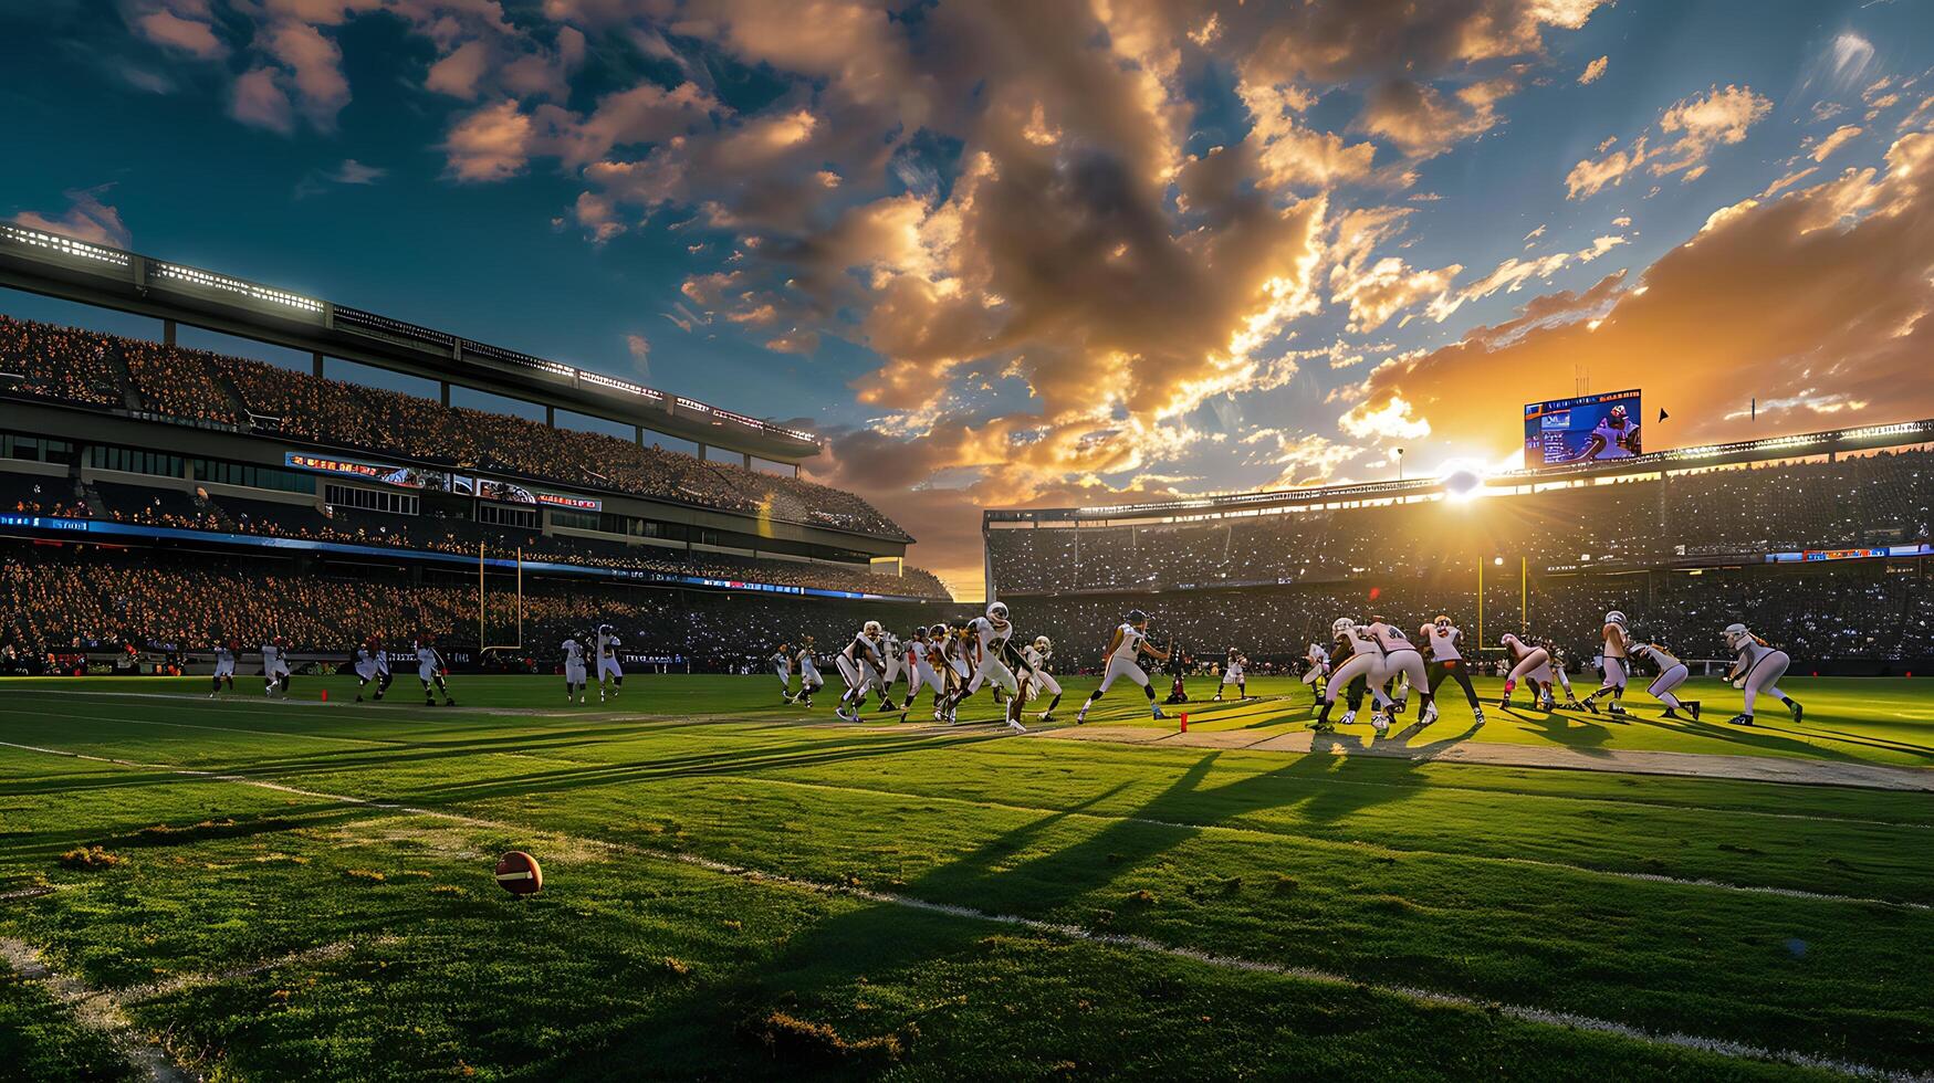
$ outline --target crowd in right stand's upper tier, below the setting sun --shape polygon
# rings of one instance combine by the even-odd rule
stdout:
[[[1427,578],[1505,557],[1642,567],[1686,555],[1928,540],[1934,451],[1741,466],[1470,503],[990,530],[1002,594]]]

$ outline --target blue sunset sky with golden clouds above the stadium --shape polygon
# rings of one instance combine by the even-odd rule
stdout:
[[[963,598],[984,507],[1516,466],[1580,389],[1667,410],[1648,451],[1934,416],[1911,0],[43,0],[0,43],[0,217],[816,427]]]

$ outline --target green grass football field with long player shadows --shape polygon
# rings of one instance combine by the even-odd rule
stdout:
[[[772,677],[238,685],[0,681],[0,1077],[1934,1069],[1919,681],[1795,679],[1804,723],[1750,731],[1717,681],[1700,723],[1456,698],[1313,748],[1269,679],[1189,735],[1124,687],[1031,737]],[[1702,772],[1741,762],[1874,781]],[[509,849],[542,893],[495,884]]]

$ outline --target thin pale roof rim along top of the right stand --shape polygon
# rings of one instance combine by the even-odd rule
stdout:
[[[1654,451],[1630,458],[1607,462],[1574,462],[1545,470],[1510,470],[1483,480],[1485,487],[1510,489],[1518,485],[1538,485],[1547,482],[1572,482],[1578,478],[1619,478],[1628,474],[1657,474],[1663,470],[1694,470],[1702,466],[1725,466],[1735,462],[1766,462],[1775,458],[1801,458],[1812,454],[1835,454],[1847,451],[1866,451],[1880,447],[1901,447],[1934,441],[1934,420],[1895,422],[1888,425],[1861,425],[1849,429],[1826,429],[1818,433],[1799,433],[1789,437],[1766,437],[1756,441],[1712,443],[1700,447],[1681,447],[1675,451]],[[996,522],[1102,522],[1128,518],[1172,518],[1172,516],[1215,516],[1236,511],[1255,511],[1273,507],[1329,505],[1348,501],[1385,501],[1396,497],[1418,497],[1445,491],[1445,478],[1412,478],[1404,482],[1363,482],[1354,485],[1321,485],[1305,489],[1271,489],[1259,493],[1228,493],[1220,497],[1197,497],[1182,501],[1151,501],[1135,505],[1102,507],[1062,507],[1062,509],[986,509],[982,526]]]

